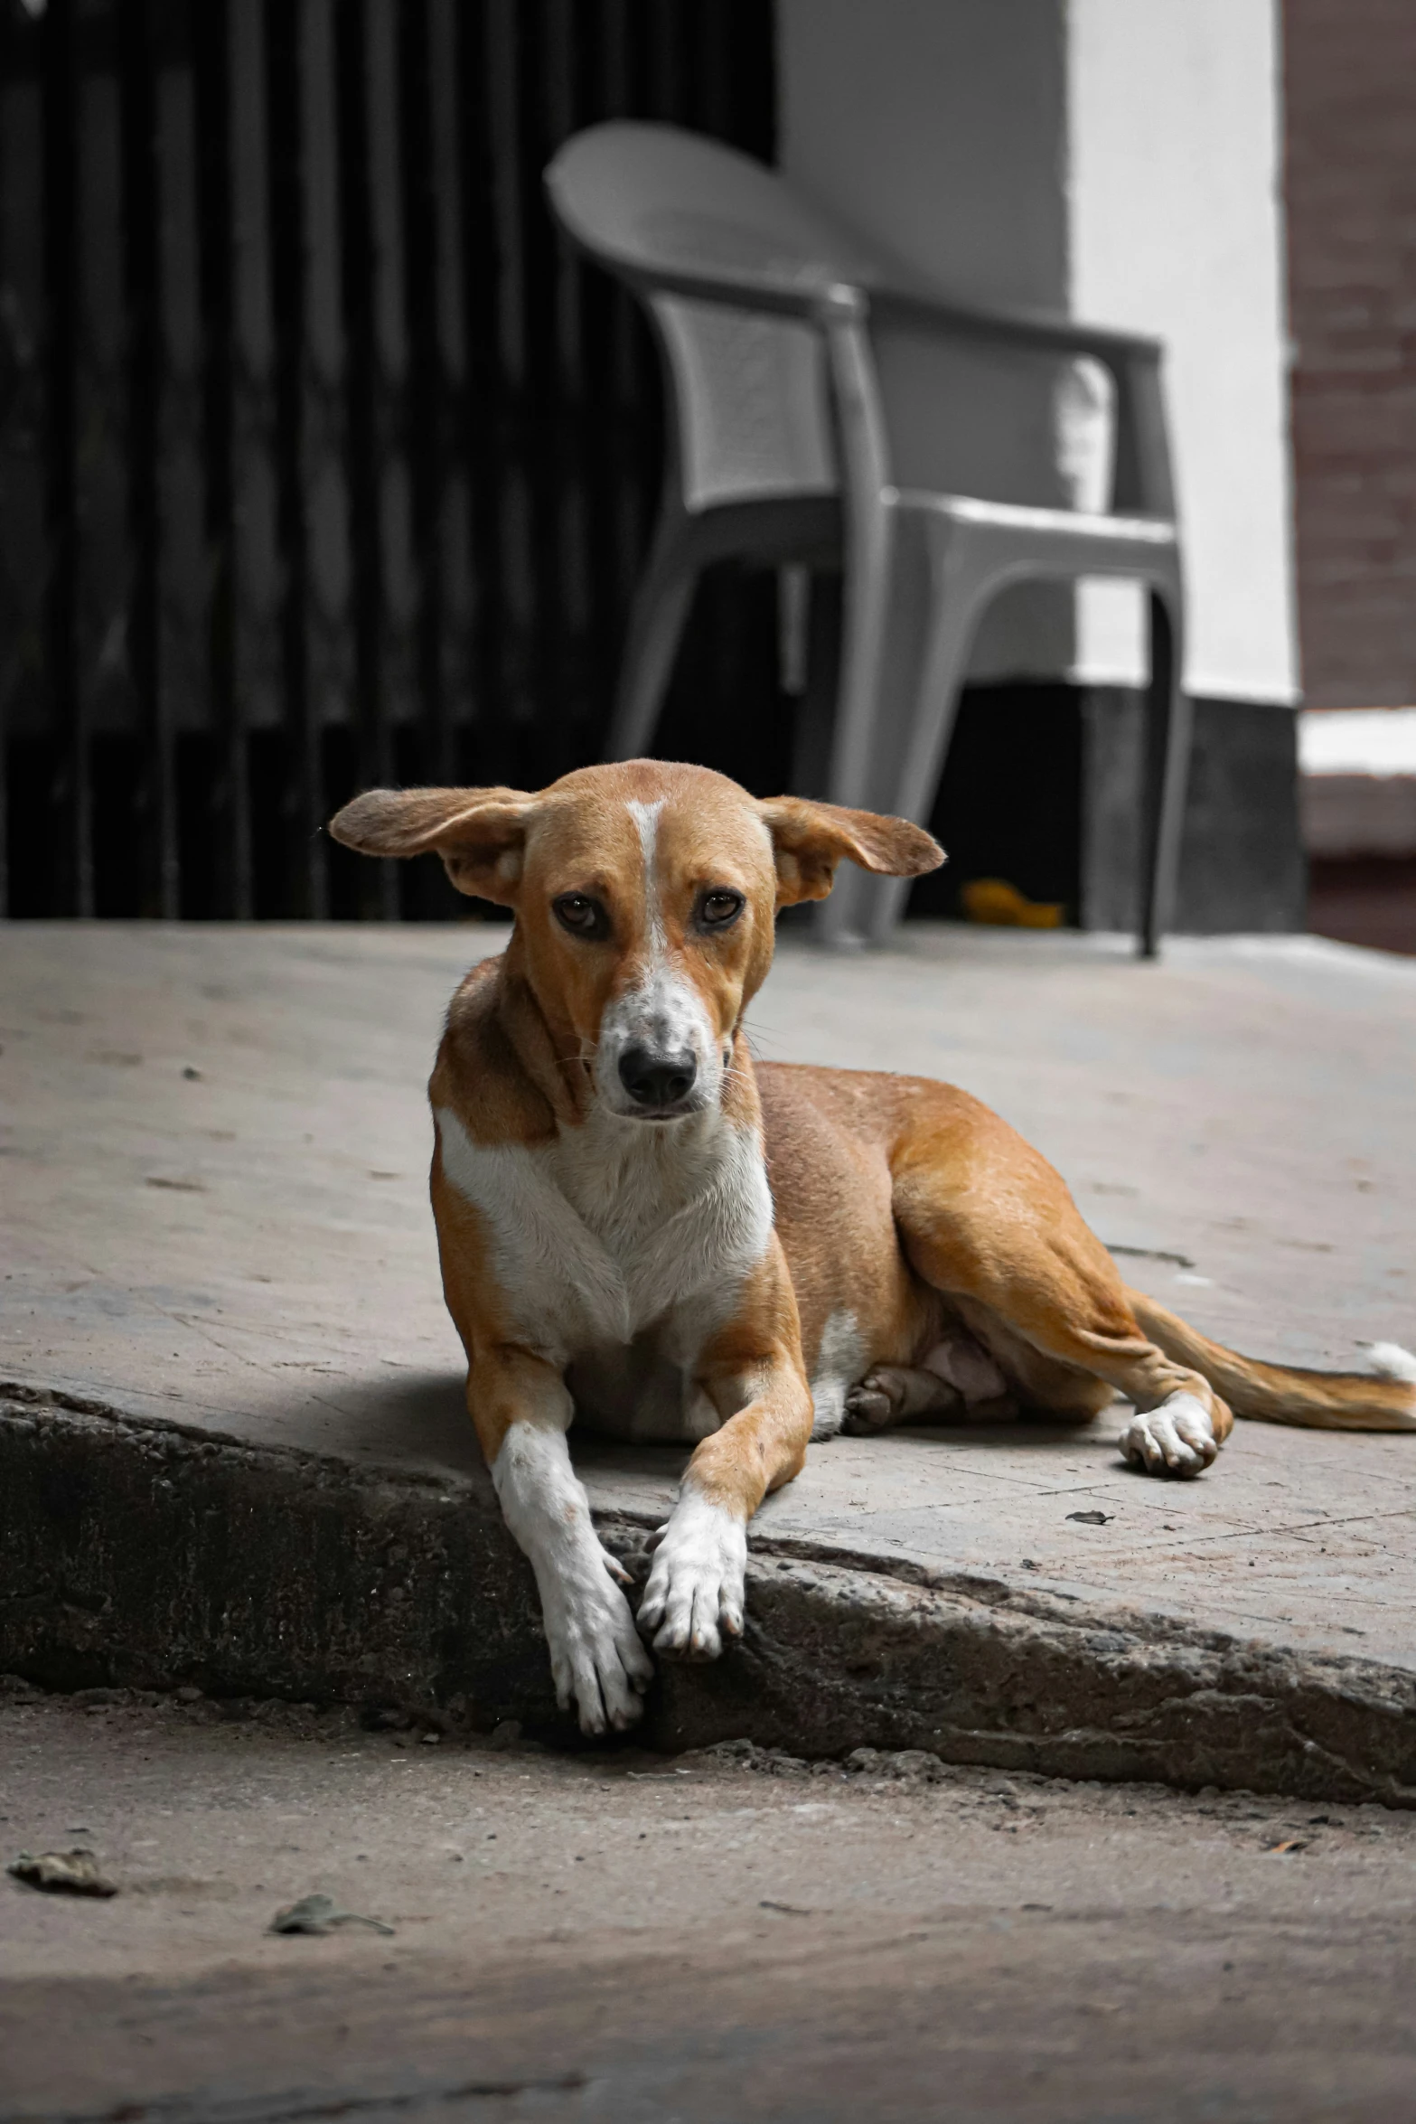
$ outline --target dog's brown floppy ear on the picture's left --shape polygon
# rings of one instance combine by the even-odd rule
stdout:
[[[535,803],[526,790],[365,790],[329,833],[361,856],[437,850],[459,892],[514,907]]]

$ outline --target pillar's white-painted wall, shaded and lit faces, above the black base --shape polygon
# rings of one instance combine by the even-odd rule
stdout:
[[[943,289],[1157,331],[1187,684],[1295,692],[1278,0],[779,0],[781,161]],[[964,357],[940,459],[1061,499],[1051,384]],[[1123,584],[1000,603],[979,678],[1134,682]]]

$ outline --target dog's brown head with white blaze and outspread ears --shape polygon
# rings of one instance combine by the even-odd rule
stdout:
[[[369,790],[329,824],[367,856],[435,850],[459,892],[512,907],[518,973],[599,1104],[673,1121],[722,1096],[773,958],[773,918],[843,858],[917,877],[943,850],[900,818],[758,801],[707,767],[582,767],[550,788]]]

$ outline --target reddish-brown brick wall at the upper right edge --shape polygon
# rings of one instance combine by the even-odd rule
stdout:
[[[1416,703],[1416,0],[1284,0],[1310,707]]]

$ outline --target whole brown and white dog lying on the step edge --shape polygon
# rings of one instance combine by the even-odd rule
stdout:
[[[919,826],[633,760],[539,794],[369,790],[329,830],[435,850],[516,913],[448,1011],[433,1213],[467,1406],[588,1733],[639,1716],[639,1631],[713,1659],[743,1629],[747,1521],[813,1423],[1093,1417],[1121,1391],[1127,1459],[1180,1476],[1233,1412],[1416,1429],[1395,1344],[1376,1376],[1257,1364],[1127,1289],[1057,1172],[966,1092],[754,1066],[777,909],[824,898],[843,858],[932,871]],[[571,1468],[575,1415],[694,1442],[639,1627]]]

